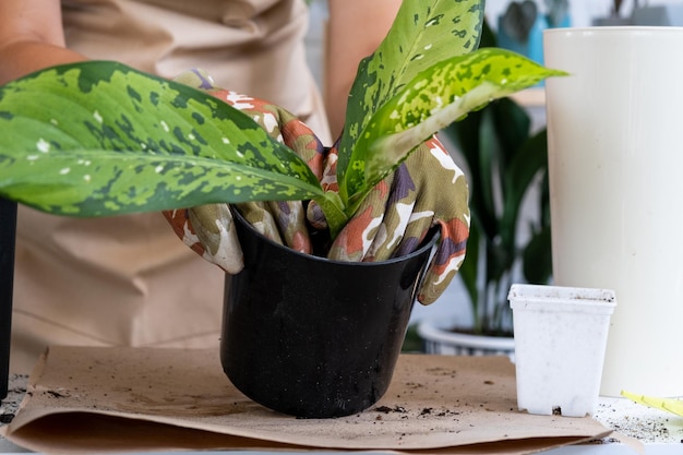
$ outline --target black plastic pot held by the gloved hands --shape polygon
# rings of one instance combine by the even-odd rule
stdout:
[[[279,412],[359,412],[386,392],[438,235],[379,263],[298,253],[236,215],[244,270],[226,275],[220,360],[233,385]]]

